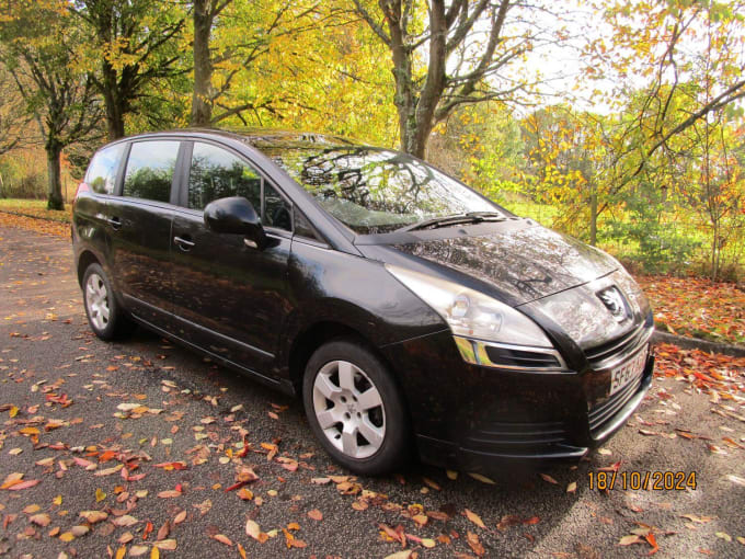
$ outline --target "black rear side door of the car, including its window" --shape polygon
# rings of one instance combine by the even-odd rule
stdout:
[[[119,196],[108,201],[110,262],[116,290],[140,320],[169,328],[171,221],[176,206],[175,139],[129,144]]]

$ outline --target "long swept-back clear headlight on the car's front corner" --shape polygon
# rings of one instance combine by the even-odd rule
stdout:
[[[462,285],[386,264],[399,282],[440,315],[469,363],[519,369],[564,369],[546,333],[513,307]]]

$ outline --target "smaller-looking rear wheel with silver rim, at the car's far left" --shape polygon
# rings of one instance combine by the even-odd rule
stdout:
[[[131,332],[134,323],[124,313],[105,272],[91,264],[83,274],[83,305],[88,323],[102,340],[115,340]]]

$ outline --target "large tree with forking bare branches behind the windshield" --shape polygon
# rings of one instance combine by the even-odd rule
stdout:
[[[354,0],[388,48],[401,148],[424,157],[436,123],[463,104],[511,99],[527,87],[506,70],[530,52],[538,28],[515,0]]]

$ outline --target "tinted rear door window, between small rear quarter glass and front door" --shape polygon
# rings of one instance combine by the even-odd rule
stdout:
[[[124,195],[169,202],[179,155],[177,141],[137,141],[131,145],[124,178]]]

